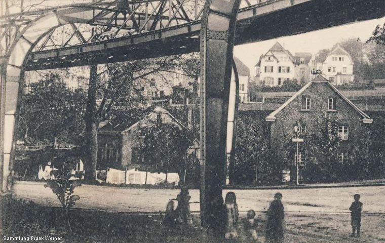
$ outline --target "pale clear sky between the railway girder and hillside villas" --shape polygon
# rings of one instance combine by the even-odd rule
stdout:
[[[234,48],[234,56],[238,57],[250,68],[252,77],[255,76],[255,64],[261,54],[265,54],[276,42],[281,43],[291,54],[296,52],[317,53],[322,49],[329,49],[334,44],[349,38],[360,38],[365,42],[372,34],[377,24],[383,25],[385,18],[362,21],[353,24],[340,25],[327,29],[312,31],[304,34],[285,36],[268,41],[245,44]]]

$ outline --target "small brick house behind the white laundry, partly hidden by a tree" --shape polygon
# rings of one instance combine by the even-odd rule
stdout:
[[[155,107],[143,119],[134,124],[103,124],[98,131],[98,163],[97,168],[105,170],[140,168],[144,161],[144,151],[141,149],[140,131],[161,116],[165,124],[175,124],[179,129],[185,129],[173,115],[162,107]]]

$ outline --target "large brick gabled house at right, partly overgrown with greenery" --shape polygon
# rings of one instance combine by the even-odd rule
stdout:
[[[325,77],[318,75],[266,116],[265,120],[270,123],[270,147],[277,153],[287,150],[290,146],[294,147],[294,126],[298,126],[299,135],[305,131],[309,134],[315,133],[319,131],[317,121],[324,114],[337,121],[338,136],[341,140],[338,159],[342,160],[349,146],[355,142],[354,139],[357,136],[365,136],[358,134],[358,129],[373,121]]]

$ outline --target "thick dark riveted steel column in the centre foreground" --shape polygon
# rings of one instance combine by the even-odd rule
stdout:
[[[241,0],[206,0],[201,27],[201,220],[216,229],[226,171],[234,33]]]

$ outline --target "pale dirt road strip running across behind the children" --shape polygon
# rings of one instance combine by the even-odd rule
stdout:
[[[58,199],[50,188],[44,188],[42,182],[17,181],[14,186],[18,198],[32,200],[47,206],[60,206]],[[237,195],[240,211],[267,210],[270,201],[278,190],[233,190]],[[385,186],[286,189],[283,204],[286,212],[312,213],[349,213],[348,208],[355,193],[361,194],[364,212],[385,213]],[[159,212],[166,204],[176,198],[178,189],[139,189],[109,186],[82,185],[75,188],[75,194],[81,199],[76,207],[98,209],[111,212]],[[227,191],[223,192],[223,196]],[[190,190],[190,202],[199,201],[199,190]],[[381,199],[382,198],[382,199]],[[199,211],[199,204],[191,204],[191,211]]]

